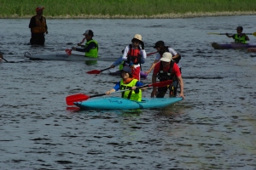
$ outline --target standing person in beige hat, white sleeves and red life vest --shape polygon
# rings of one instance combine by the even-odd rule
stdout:
[[[140,46],[142,48],[140,48]],[[125,47],[125,51],[122,59],[125,61],[124,65],[131,67],[131,74],[134,78],[140,81],[141,64],[144,63],[144,59],[147,58],[147,54],[144,49],[143,37],[140,34],[135,34],[131,39],[131,44]]]

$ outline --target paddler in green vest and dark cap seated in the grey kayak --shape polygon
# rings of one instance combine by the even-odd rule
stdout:
[[[75,48],[72,49],[79,52],[85,52],[85,57],[91,57],[91,58],[97,58],[98,57],[98,42],[96,42],[94,39],[92,39],[93,31],[86,30],[83,34],[86,39],[86,43],[84,48]],[[78,45],[81,45],[81,43],[78,43]]]

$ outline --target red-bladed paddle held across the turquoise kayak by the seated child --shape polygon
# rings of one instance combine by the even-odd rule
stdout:
[[[153,84],[148,84],[148,85],[141,86],[141,87],[138,87],[138,88],[165,87],[165,86],[168,86],[170,84],[172,84],[172,80],[168,80],[168,81],[165,81],[165,82],[155,82]],[[130,89],[120,90],[120,91],[113,92],[113,93],[124,92],[124,91],[127,91],[127,90],[130,90]],[[99,96],[103,96],[103,95],[106,95],[106,94],[96,94],[96,95],[91,95],[91,96],[86,95],[86,94],[73,94],[73,95],[69,95],[69,96],[66,97],[66,103],[67,103],[67,105],[73,105],[73,102],[84,101],[84,100],[87,100],[89,98],[99,97]]]

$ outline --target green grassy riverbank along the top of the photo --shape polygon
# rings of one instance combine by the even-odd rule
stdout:
[[[255,0],[0,0],[0,18],[187,18],[256,14]]]

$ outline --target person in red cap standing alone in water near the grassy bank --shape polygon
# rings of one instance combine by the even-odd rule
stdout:
[[[29,23],[31,29],[31,45],[44,45],[44,33],[48,34],[46,19],[43,16],[44,7],[36,8],[37,15],[33,16]]]

